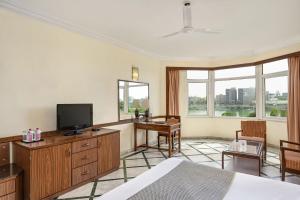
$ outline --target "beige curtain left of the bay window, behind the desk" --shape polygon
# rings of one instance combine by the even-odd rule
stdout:
[[[169,77],[169,113],[179,115],[179,70],[168,71]]]

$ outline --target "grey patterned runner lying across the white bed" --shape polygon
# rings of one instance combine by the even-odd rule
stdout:
[[[128,200],[221,200],[233,177],[233,172],[183,161]]]

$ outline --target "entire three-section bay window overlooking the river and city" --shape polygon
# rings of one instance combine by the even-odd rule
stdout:
[[[188,115],[282,120],[288,108],[288,59],[229,69],[188,70]]]

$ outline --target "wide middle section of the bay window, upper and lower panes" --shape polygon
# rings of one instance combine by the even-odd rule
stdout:
[[[255,67],[215,71],[215,116],[256,117]]]

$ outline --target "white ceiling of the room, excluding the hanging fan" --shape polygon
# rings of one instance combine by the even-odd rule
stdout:
[[[162,38],[182,28],[183,0],[0,0],[65,28],[163,59],[251,56],[300,43],[299,0],[191,0],[193,26],[220,34]]]

